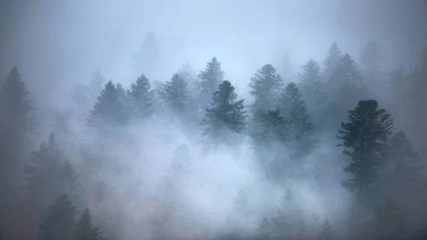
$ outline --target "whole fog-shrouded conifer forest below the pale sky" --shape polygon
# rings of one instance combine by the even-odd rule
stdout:
[[[332,43],[292,79],[265,63],[251,100],[214,56],[155,79],[141,53],[132,84],[95,71],[51,123],[16,66],[1,79],[0,239],[423,239],[427,49],[409,70],[381,69],[380,52]]]

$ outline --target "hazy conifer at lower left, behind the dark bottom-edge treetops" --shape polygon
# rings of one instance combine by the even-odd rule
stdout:
[[[53,202],[61,194],[67,194],[83,207],[83,189],[78,183],[78,174],[68,161],[53,133],[47,142],[31,155],[24,166],[26,205],[38,218],[46,211],[48,202]]]

